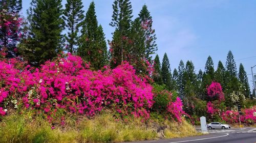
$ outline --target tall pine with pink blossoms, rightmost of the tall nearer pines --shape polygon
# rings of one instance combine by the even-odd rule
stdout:
[[[156,44],[156,34],[155,30],[152,28],[152,17],[150,12],[147,10],[147,6],[143,5],[140,13],[139,13],[140,22],[142,24],[144,30],[144,46],[145,46],[145,54],[147,60],[151,61],[152,56],[157,51],[157,44]]]

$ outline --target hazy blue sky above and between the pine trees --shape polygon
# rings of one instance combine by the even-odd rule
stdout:
[[[31,1],[23,1],[23,13]],[[92,1],[82,1],[87,11]],[[111,0],[95,0],[96,14],[102,25],[106,40],[111,40],[114,31],[109,23],[112,16]],[[158,54],[164,52],[170,60],[172,71],[180,60],[191,60],[196,72],[204,70],[210,55],[217,68],[218,61],[225,65],[226,55],[232,51],[234,59],[242,63],[247,74],[256,65],[256,1],[240,0],[131,0],[133,18],[138,16],[144,4],[153,17],[156,30]],[[63,1],[63,6],[66,1]],[[256,73],[256,67],[254,68]],[[252,87],[252,76],[248,75]]]

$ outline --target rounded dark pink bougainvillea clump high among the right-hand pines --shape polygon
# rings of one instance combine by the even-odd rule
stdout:
[[[224,101],[224,93],[222,92],[221,84],[218,82],[212,81],[209,87],[207,88],[207,94],[209,97],[217,97],[220,101]]]

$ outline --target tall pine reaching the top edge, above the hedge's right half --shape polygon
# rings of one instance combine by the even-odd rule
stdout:
[[[129,59],[130,44],[129,31],[132,22],[132,5],[129,0],[115,0],[113,7],[112,22],[110,25],[115,27],[113,39],[110,42],[112,54],[111,65],[116,67],[122,61]]]

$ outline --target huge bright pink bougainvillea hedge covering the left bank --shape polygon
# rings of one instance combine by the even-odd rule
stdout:
[[[69,54],[40,68],[15,59],[0,61],[0,105],[1,115],[6,114],[4,108],[22,106],[86,116],[110,108],[122,115],[149,118],[153,93],[152,86],[126,62],[113,70],[92,71],[79,56]]]

